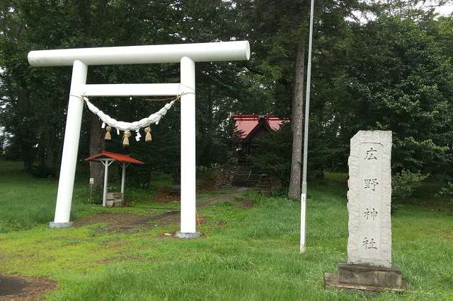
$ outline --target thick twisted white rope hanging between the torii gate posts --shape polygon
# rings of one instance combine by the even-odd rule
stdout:
[[[120,129],[121,131],[138,131],[142,127],[149,126],[149,124],[159,124],[159,120],[167,114],[168,110],[170,110],[175,100],[168,102],[164,105],[161,110],[155,112],[154,114],[149,115],[146,118],[140,119],[138,122],[119,122],[116,119],[108,116],[101,110],[99,110],[95,105],[93,105],[88,98],[84,97],[86,105],[88,109],[93,112],[94,114],[98,115],[98,117],[102,120],[103,123],[108,124],[108,126],[112,126],[115,129]]]

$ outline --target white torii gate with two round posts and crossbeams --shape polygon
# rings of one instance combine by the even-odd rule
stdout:
[[[55,220],[50,228],[66,228],[71,213],[83,96],[171,96],[180,102],[181,216],[179,237],[199,237],[195,224],[195,61],[239,61],[250,58],[248,41],[176,45],[38,50],[28,53],[33,67],[73,66]],[[86,83],[89,65],[180,63],[180,83]]]

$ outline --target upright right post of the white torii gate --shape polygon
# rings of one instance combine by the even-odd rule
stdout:
[[[200,237],[195,223],[196,210],[196,167],[195,167],[195,62],[188,57],[180,60],[180,81],[183,86],[181,96],[181,238]]]

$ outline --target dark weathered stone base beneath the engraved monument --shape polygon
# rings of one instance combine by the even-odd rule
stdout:
[[[398,292],[406,290],[401,271],[396,267],[338,264],[338,275],[326,273],[324,283],[326,288]]]

